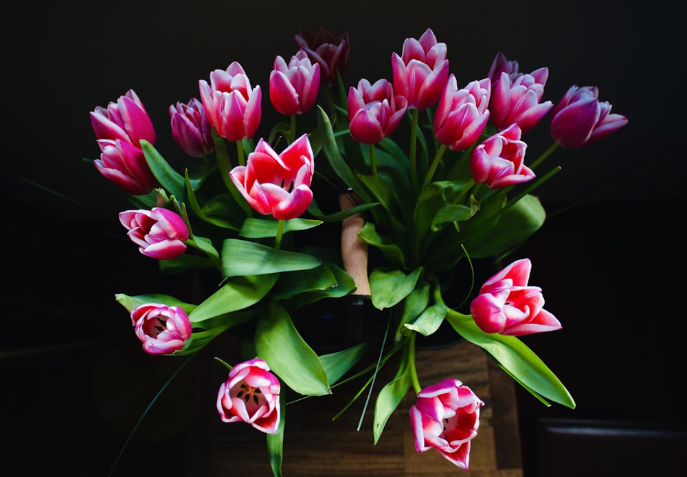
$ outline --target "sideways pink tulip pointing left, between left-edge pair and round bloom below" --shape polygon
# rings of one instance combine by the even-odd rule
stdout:
[[[188,227],[179,214],[166,208],[151,210],[126,210],[120,212],[120,223],[124,225],[131,241],[139,251],[158,260],[172,260],[186,249]]]

